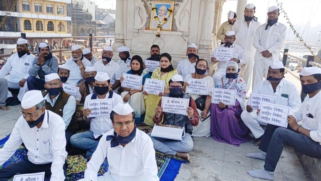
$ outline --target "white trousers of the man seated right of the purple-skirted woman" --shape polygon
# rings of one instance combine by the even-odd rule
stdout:
[[[264,129],[260,126],[266,126],[267,124],[257,120],[256,110],[247,112],[244,110],[241,114],[241,119],[248,129],[251,130],[255,138],[260,138],[264,134]]]

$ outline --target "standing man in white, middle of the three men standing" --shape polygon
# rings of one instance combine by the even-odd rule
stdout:
[[[235,43],[243,48],[247,59],[247,64],[242,65],[242,71],[240,74],[240,77],[242,77],[246,83],[246,92],[250,90],[253,77],[254,55],[256,51],[253,46],[253,39],[257,27],[261,25],[254,14],[255,5],[246,5],[244,10],[244,20],[237,20],[232,26],[232,31],[235,32],[236,37]]]

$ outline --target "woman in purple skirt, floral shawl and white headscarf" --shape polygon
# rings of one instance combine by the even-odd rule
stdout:
[[[235,106],[219,104],[211,105],[211,135],[219,142],[239,146],[249,140],[249,129],[241,120],[241,113],[245,110],[246,84],[238,77],[239,66],[230,61],[226,65],[226,76],[222,77],[216,88],[236,90]]]

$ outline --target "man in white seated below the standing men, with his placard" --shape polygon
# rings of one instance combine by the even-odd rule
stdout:
[[[221,81],[221,78],[225,76],[226,62],[234,61],[239,64],[239,67],[242,67],[243,64],[247,63],[243,48],[234,43],[236,40],[235,32],[227,31],[224,40],[225,43],[221,44],[218,48],[215,48],[215,51],[211,55],[211,62],[219,62],[218,68],[213,74],[215,85],[217,85],[218,82]]]

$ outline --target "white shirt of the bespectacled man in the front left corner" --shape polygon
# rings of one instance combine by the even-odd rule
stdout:
[[[37,126],[30,128],[21,116],[14,125],[8,141],[0,149],[0,165],[9,159],[22,143],[28,150],[27,155],[31,163],[52,163],[51,181],[65,180],[63,170],[67,157],[65,123],[59,115],[46,110],[40,128]]]

